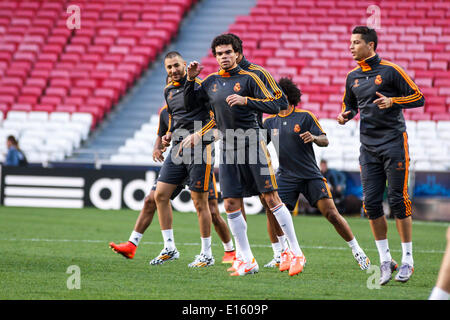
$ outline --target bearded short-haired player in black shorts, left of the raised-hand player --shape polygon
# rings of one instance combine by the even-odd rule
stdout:
[[[177,186],[188,178],[192,200],[198,214],[202,244],[200,254],[195,257],[189,266],[210,266],[214,264],[214,258],[211,250],[211,212],[208,206],[208,186],[212,179],[214,145],[211,143],[202,145],[202,154],[204,152],[205,157],[199,158],[193,151],[191,154],[185,153],[183,157],[177,157],[175,154],[184,136],[194,132],[196,123],[205,126],[211,119],[208,110],[203,106],[197,105],[190,111],[187,111],[184,107],[183,91],[186,81],[186,62],[181,54],[175,51],[167,53],[164,57],[164,66],[167,74],[172,78],[172,83],[164,88],[170,126],[168,132],[162,138],[162,144],[168,146],[173,137],[173,146],[161,168],[155,190],[155,201],[164,239],[164,248],[150,263],[160,264],[179,256],[172,229],[173,215],[170,197]]]

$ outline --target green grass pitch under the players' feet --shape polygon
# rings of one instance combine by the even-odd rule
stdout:
[[[263,268],[272,258],[264,215],[248,216],[248,236],[260,272],[230,277],[221,264],[222,244],[213,231],[216,264],[202,269],[187,265],[200,251],[194,213],[174,213],[180,259],[161,266],[149,260],[162,249],[157,217],[144,234],[136,256],[127,260],[108,247],[124,242],[137,212],[97,209],[0,207],[0,300],[3,299],[170,299],[170,300],[342,300],[427,299],[445,250],[448,223],[413,225],[415,273],[408,283],[389,282],[369,289],[372,273],[361,271],[351,250],[322,217],[297,216],[294,223],[307,258],[295,277]],[[366,219],[346,217],[372,264],[378,253]],[[395,222],[389,221],[392,256],[401,260]],[[80,289],[68,289],[69,266],[80,269]],[[373,281],[372,281],[373,283]]]

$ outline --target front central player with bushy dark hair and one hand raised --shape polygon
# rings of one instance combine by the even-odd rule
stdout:
[[[202,67],[196,61],[189,64],[184,90],[185,107],[191,110],[199,104],[211,106],[222,134],[220,186],[228,224],[243,259],[231,275],[241,276],[259,270],[248,242],[241,200],[243,196],[263,194],[293,251],[289,268],[289,275],[292,276],[303,270],[306,259],[298,244],[291,214],[276,191],[275,174],[257,122],[258,113],[276,114],[280,107],[254,73],[238,66],[238,47],[236,38],[230,35],[217,36],[211,44],[211,50],[221,69],[207,76],[197,88],[194,80]],[[200,135],[194,135],[197,136],[197,142]]]

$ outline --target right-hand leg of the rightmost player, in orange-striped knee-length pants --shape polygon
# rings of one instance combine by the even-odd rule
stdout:
[[[406,282],[414,272],[412,251],[412,210],[408,195],[409,154],[406,133],[398,145],[392,145],[385,162],[388,181],[388,201],[395,216],[402,244],[402,264],[395,280]]]

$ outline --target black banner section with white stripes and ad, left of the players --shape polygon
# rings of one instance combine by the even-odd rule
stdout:
[[[1,168],[5,206],[140,210],[159,168]]]

